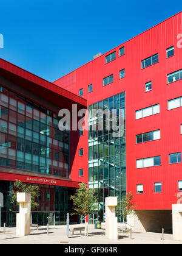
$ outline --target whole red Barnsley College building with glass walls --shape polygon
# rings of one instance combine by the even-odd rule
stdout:
[[[64,223],[70,194],[87,182],[98,196],[90,223],[103,221],[105,197],[131,191],[136,216],[130,223],[171,231],[172,204],[182,191],[181,38],[182,12],[53,83],[0,60],[2,222],[15,224],[7,191],[16,179],[39,184],[32,222],[41,225],[47,218]],[[87,108],[89,129],[61,132],[59,109],[72,112],[73,104]],[[116,110],[120,137],[106,129],[112,116],[90,115],[98,109]]]

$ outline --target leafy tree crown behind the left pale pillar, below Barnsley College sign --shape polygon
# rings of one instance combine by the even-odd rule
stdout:
[[[34,185],[28,185],[27,183],[23,183],[20,180],[16,180],[15,183],[11,186],[11,191],[8,191],[10,195],[10,202],[13,204],[19,204],[16,202],[16,194],[17,193],[29,193],[31,194],[31,210],[34,210],[39,204],[36,202],[36,199],[39,196],[39,187]]]

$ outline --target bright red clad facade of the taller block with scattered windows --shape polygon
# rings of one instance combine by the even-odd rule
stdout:
[[[171,210],[181,190],[182,108],[175,104],[182,96],[181,33],[180,12],[54,82],[83,94],[87,105],[125,91],[126,189],[137,210]],[[79,138],[71,176],[88,180],[87,131]]]

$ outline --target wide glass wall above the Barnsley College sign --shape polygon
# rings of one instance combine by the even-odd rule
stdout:
[[[0,87],[0,165],[69,177],[69,131],[58,114]]]

